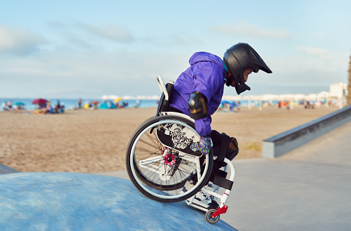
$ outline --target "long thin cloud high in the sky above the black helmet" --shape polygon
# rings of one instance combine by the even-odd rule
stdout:
[[[218,25],[210,27],[211,32],[235,35],[235,36],[250,36],[253,38],[290,38],[289,32],[283,29],[264,29],[256,25],[239,22],[235,25]]]

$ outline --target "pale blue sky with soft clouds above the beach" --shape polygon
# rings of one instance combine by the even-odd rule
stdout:
[[[273,71],[241,95],[348,84],[351,1],[0,0],[0,97],[160,95],[197,51],[247,42]],[[224,95],[237,95],[225,87]]]

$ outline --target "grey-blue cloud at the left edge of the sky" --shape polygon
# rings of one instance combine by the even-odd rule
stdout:
[[[26,55],[38,49],[44,38],[0,24],[0,52]]]

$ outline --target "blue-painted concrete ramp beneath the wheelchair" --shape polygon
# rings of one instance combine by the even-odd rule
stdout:
[[[128,180],[83,173],[0,175],[0,230],[236,230],[184,202],[163,204]]]

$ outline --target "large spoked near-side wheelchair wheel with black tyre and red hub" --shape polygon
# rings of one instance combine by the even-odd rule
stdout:
[[[130,138],[126,167],[130,180],[158,202],[180,202],[197,193],[208,181],[213,153],[197,151],[199,134],[192,121],[174,115],[153,117]],[[191,189],[183,190],[186,182]]]

